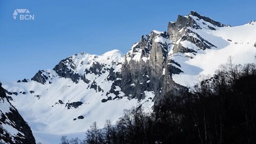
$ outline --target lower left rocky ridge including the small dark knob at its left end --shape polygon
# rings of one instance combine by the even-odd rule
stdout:
[[[101,75],[121,63],[122,53],[119,50],[109,51],[102,55],[82,52],[61,60],[52,70],[39,70],[31,80],[41,84],[47,82],[51,84],[53,78],[63,77],[70,78],[74,83],[80,80],[90,83],[91,81],[86,78],[87,74]]]

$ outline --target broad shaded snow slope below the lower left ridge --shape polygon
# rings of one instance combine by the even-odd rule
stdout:
[[[80,75],[85,73],[85,69],[90,69],[95,62],[105,67],[102,67],[101,70],[97,69],[99,72],[97,74],[87,73],[86,79],[90,81],[88,84],[82,79],[79,79],[78,83],[74,83],[70,78],[58,76],[52,69],[44,70],[42,73],[49,77],[45,84],[29,79],[27,79],[28,82],[20,83],[3,82],[3,87],[7,91],[17,92],[17,95],[11,94],[13,99],[11,102],[29,123],[37,142],[54,143],[52,139],[55,139],[56,142],[62,135],[74,136],[76,135],[74,133],[80,133],[83,138],[84,132],[94,121],[99,127],[103,127],[106,119],[115,122],[123,115],[124,109],[137,107],[142,103],[147,110],[151,110],[153,101],[149,98],[154,98],[154,93],[148,91],[145,91],[147,97],[141,101],[129,100],[122,97],[124,93],[119,87],[116,87],[115,90],[120,91],[118,94],[120,98],[102,102],[104,98],[116,97],[113,93],[107,94],[113,83],[113,81],[107,80],[107,77],[109,68],[114,68],[114,71],[121,70],[121,65],[113,64],[113,62],[122,63],[123,57],[119,51],[113,50],[103,55],[80,53],[70,58],[73,61],[67,63],[67,67]],[[70,65],[74,65],[76,68],[71,68]],[[103,70],[105,72],[100,73]],[[92,87],[94,83],[98,86],[95,89]],[[68,107],[67,103],[72,102],[82,102],[82,105]],[[83,116],[84,119],[79,119],[78,116]],[[52,139],[45,139],[45,135]]]

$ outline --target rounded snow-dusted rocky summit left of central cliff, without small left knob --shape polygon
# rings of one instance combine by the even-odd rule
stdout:
[[[113,53],[118,53],[118,51],[114,50],[101,56],[87,53],[75,54],[61,60],[53,70],[59,77],[70,78],[74,83],[82,80],[89,84],[91,81],[86,76],[90,74],[101,76],[106,71],[113,71],[113,67],[121,65],[118,61],[119,53],[117,55],[113,55]],[[94,85],[95,82],[93,81],[91,89],[96,89]]]

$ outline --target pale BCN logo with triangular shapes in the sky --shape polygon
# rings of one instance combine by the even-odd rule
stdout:
[[[17,17],[19,16],[20,20],[34,20],[35,15],[30,14],[30,11],[28,9],[16,9],[13,12],[13,19],[16,20]]]

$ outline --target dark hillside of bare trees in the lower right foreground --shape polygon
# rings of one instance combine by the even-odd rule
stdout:
[[[193,93],[167,93],[161,107],[125,110],[114,125],[96,123],[78,143],[256,143],[256,65],[227,65]],[[66,140],[66,139],[65,139]],[[65,140],[61,143],[65,143]],[[66,143],[74,143],[66,140]]]

